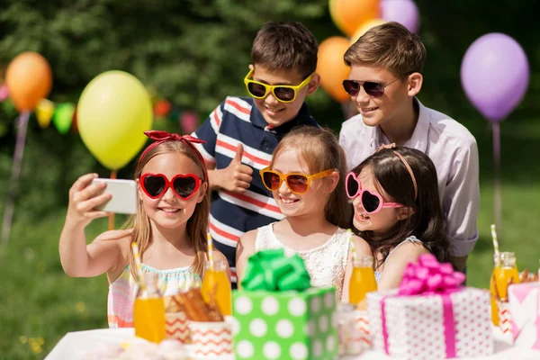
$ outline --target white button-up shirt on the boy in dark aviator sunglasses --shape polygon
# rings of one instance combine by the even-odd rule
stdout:
[[[455,257],[464,257],[473,251],[478,238],[480,184],[476,139],[459,122],[418,103],[419,121],[403,146],[419,149],[435,164],[450,251]],[[365,125],[358,114],[343,123],[339,143],[352,169],[390,141],[379,126]]]

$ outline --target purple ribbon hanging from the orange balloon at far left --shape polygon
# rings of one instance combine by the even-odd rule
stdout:
[[[15,193],[17,193],[17,184],[21,174],[21,164],[23,163],[24,142],[26,140],[26,130],[28,129],[28,119],[30,112],[21,112],[17,120],[17,139],[15,142],[14,165],[7,192],[7,199],[4,207],[4,220],[2,222],[2,244],[7,244],[11,230],[12,220],[14,218]]]

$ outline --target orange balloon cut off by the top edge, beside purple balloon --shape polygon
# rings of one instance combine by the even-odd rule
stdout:
[[[336,26],[349,37],[363,23],[381,17],[379,0],[329,0],[329,9]]]

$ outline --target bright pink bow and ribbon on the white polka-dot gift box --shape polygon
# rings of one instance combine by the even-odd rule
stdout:
[[[397,297],[414,295],[439,295],[443,301],[446,357],[455,357],[455,319],[451,293],[460,290],[465,275],[455,272],[451,264],[441,264],[437,257],[422,254],[417,264],[409,263],[403,273]],[[388,328],[386,324],[386,299],[381,301],[384,351],[390,355]]]

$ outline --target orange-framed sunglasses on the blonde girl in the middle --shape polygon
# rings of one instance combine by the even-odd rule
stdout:
[[[328,169],[314,175],[291,173],[282,174],[279,171],[270,170],[270,167],[265,167],[259,171],[263,184],[270,191],[277,191],[281,184],[285,182],[292,193],[306,193],[310,188],[311,180],[327,177],[336,169]]]

